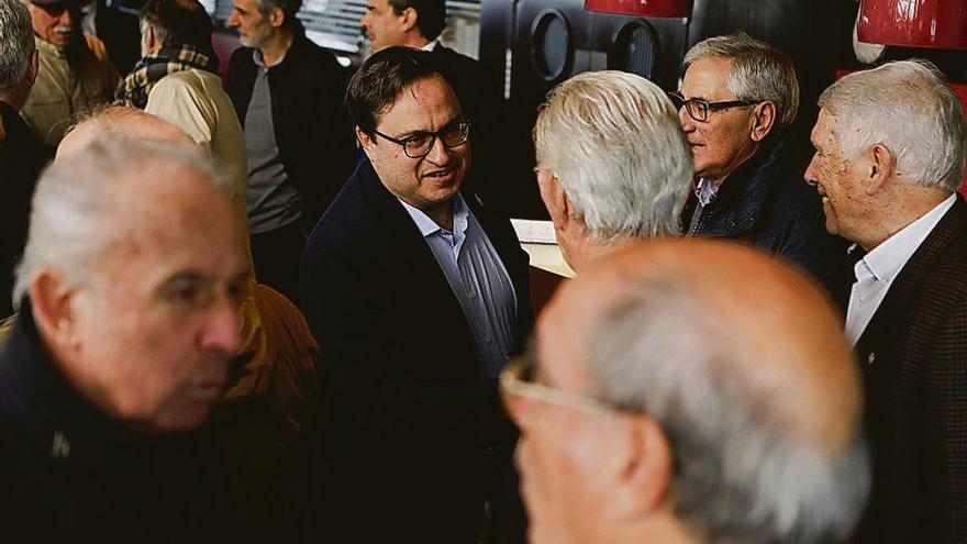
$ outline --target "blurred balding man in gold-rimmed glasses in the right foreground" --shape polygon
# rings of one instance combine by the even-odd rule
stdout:
[[[593,263],[501,385],[532,544],[838,543],[867,497],[832,303],[737,244],[666,238]]]

